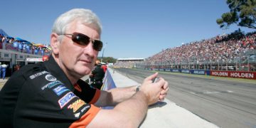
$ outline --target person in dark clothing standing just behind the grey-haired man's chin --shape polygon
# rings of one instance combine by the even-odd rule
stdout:
[[[105,72],[103,68],[101,67],[100,60],[95,61],[95,68],[92,70],[92,73],[90,74],[90,81],[92,82],[92,87],[95,87],[97,89],[101,89],[103,85],[103,78],[105,76]]]

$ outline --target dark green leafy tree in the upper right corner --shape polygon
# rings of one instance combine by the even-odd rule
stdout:
[[[238,26],[255,28],[256,0],[227,0],[230,12],[222,14],[216,22],[220,28],[228,28],[235,23]]]

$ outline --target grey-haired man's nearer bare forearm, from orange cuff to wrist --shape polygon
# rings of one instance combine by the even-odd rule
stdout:
[[[137,92],[113,110],[100,110],[87,127],[138,127],[146,115],[147,101],[143,92]]]

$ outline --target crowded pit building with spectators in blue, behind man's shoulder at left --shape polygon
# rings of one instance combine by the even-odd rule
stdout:
[[[48,46],[11,37],[0,29],[0,62],[8,65],[6,76],[14,72],[16,65],[42,61],[43,55],[50,55]]]

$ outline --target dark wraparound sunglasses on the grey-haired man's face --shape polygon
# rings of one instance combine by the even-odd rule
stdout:
[[[72,41],[75,43],[78,43],[81,46],[87,46],[90,43],[90,41],[92,41],[92,48],[97,51],[102,50],[102,47],[103,47],[102,41],[94,40],[82,33],[60,34],[60,35],[71,35]]]

